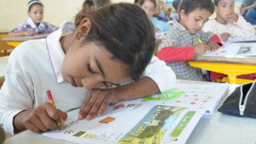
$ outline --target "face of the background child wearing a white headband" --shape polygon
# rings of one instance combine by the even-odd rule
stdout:
[[[28,11],[28,16],[30,16],[35,25],[38,26],[43,20],[43,7],[41,5],[32,5],[30,11]]]

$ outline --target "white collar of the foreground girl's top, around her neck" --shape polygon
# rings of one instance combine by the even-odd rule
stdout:
[[[60,45],[60,38],[65,35],[69,35],[74,31],[74,22],[67,21],[64,22],[57,31],[54,31],[45,39],[45,41],[47,42],[47,49],[49,52],[51,65],[53,66],[54,75],[58,83],[64,82],[61,74],[61,69],[65,54]]]

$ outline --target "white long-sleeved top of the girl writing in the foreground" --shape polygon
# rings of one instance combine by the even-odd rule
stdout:
[[[61,75],[65,54],[60,37],[74,30],[74,22],[65,22],[46,39],[25,41],[12,51],[0,91],[0,124],[6,132],[14,134],[12,121],[15,115],[49,101],[47,90],[51,90],[56,107],[64,112],[83,103],[87,90],[75,88]],[[155,56],[144,76],[156,82],[161,92],[175,85],[176,77],[171,68]]]

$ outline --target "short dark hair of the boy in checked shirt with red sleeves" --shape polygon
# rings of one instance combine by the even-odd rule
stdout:
[[[213,14],[214,4],[211,0],[182,0],[180,10],[184,9],[186,14],[190,14],[196,9],[206,9]]]

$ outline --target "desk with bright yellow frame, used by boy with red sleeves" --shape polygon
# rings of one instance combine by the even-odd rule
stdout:
[[[222,80],[230,84],[243,84],[253,82],[252,80],[237,79],[238,75],[256,73],[256,56],[248,57],[223,57],[223,56],[195,56],[194,60],[188,62],[192,67],[206,69],[217,73],[223,73],[228,77]]]

